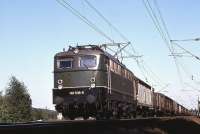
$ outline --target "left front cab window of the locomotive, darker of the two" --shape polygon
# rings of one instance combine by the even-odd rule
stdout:
[[[60,59],[57,61],[57,67],[60,69],[72,68],[72,58]]]

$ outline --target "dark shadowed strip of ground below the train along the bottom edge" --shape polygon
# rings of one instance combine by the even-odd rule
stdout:
[[[0,124],[0,133],[7,134],[148,134],[148,133],[200,133],[200,120],[195,117],[140,118],[133,120],[76,120]],[[196,119],[196,118],[195,118]],[[197,119],[198,120],[198,119]]]

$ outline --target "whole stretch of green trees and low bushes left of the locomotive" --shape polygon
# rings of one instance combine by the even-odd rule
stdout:
[[[0,92],[0,123],[56,119],[56,112],[32,108],[25,84],[12,76],[5,93]]]

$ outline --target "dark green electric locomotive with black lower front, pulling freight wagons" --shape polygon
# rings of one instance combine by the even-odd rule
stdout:
[[[53,104],[65,118],[121,118],[136,113],[134,74],[96,45],[54,56]]]

